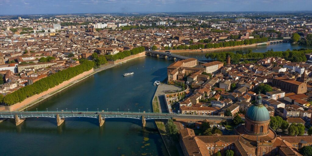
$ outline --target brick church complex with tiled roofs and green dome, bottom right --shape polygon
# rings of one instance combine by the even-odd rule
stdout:
[[[261,103],[256,103],[245,115],[245,124],[235,129],[235,135],[197,136],[193,129],[180,130],[180,145],[186,156],[210,156],[218,151],[224,155],[230,149],[236,156],[301,156],[303,146],[312,145],[312,136],[278,136],[270,128],[270,115]]]

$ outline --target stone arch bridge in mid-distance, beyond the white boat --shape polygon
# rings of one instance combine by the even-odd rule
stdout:
[[[180,60],[186,60],[190,57],[176,55],[171,53],[170,51],[160,52],[160,51],[146,51],[145,55],[152,56],[152,57],[158,57],[158,58],[167,58],[168,60],[174,60],[174,61],[180,61]],[[207,63],[205,61],[197,60],[199,63]]]

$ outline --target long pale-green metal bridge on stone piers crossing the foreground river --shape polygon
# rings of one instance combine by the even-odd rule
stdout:
[[[143,112],[105,112],[102,111],[15,111],[2,112],[0,118],[15,119],[15,124],[19,125],[26,118],[55,118],[57,126],[64,123],[65,118],[94,118],[99,120],[99,126],[103,126],[105,119],[108,118],[131,118],[142,120],[142,126],[145,127],[146,120],[149,119],[231,119],[231,117],[224,117],[218,115],[184,115],[184,114],[170,114],[170,113],[147,113]]]

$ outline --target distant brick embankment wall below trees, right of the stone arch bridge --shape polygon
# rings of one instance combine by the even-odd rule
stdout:
[[[161,52],[170,51],[171,53],[187,53],[187,52],[210,52],[210,51],[218,51],[218,50],[225,50],[225,49],[235,49],[235,48],[244,48],[244,47],[252,47],[252,46],[262,46],[268,45],[267,42],[263,43],[255,43],[249,45],[241,45],[241,46],[228,46],[228,47],[220,47],[220,48],[208,48],[208,49],[182,49],[182,50],[158,50]]]

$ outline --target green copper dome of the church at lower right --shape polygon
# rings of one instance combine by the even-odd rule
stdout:
[[[264,105],[252,105],[248,108],[246,117],[253,121],[267,121],[270,114]]]

